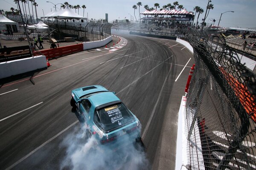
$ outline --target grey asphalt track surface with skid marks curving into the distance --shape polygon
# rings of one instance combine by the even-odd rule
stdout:
[[[59,169],[61,141],[81,127],[71,90],[95,84],[116,92],[139,118],[151,168],[175,168],[178,109],[193,55],[175,40],[121,36],[128,43],[115,52],[90,49],[1,82],[1,170]]]

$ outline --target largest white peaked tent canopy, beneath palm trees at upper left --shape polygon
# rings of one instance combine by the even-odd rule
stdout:
[[[73,12],[70,8],[65,8],[65,9],[61,9],[58,12],[54,12],[52,14],[50,14],[49,16],[44,16],[44,17],[50,17],[50,18],[57,18],[57,19],[64,19],[64,20],[71,20],[71,19],[86,19],[85,17],[80,16],[79,14],[76,14],[75,12]],[[41,18],[44,18],[41,17]]]

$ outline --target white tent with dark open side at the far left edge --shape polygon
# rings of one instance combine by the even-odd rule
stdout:
[[[12,32],[19,31],[19,25],[17,22],[9,20],[2,14],[0,14],[0,30],[9,30]]]

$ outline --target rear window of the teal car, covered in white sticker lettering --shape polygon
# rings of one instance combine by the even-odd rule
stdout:
[[[94,121],[103,131],[113,131],[135,119],[124,104],[118,103],[96,110]]]

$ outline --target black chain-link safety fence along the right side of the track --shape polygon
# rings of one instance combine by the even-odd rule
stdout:
[[[256,170],[256,76],[223,37],[188,30],[195,71],[187,93],[187,168]]]

